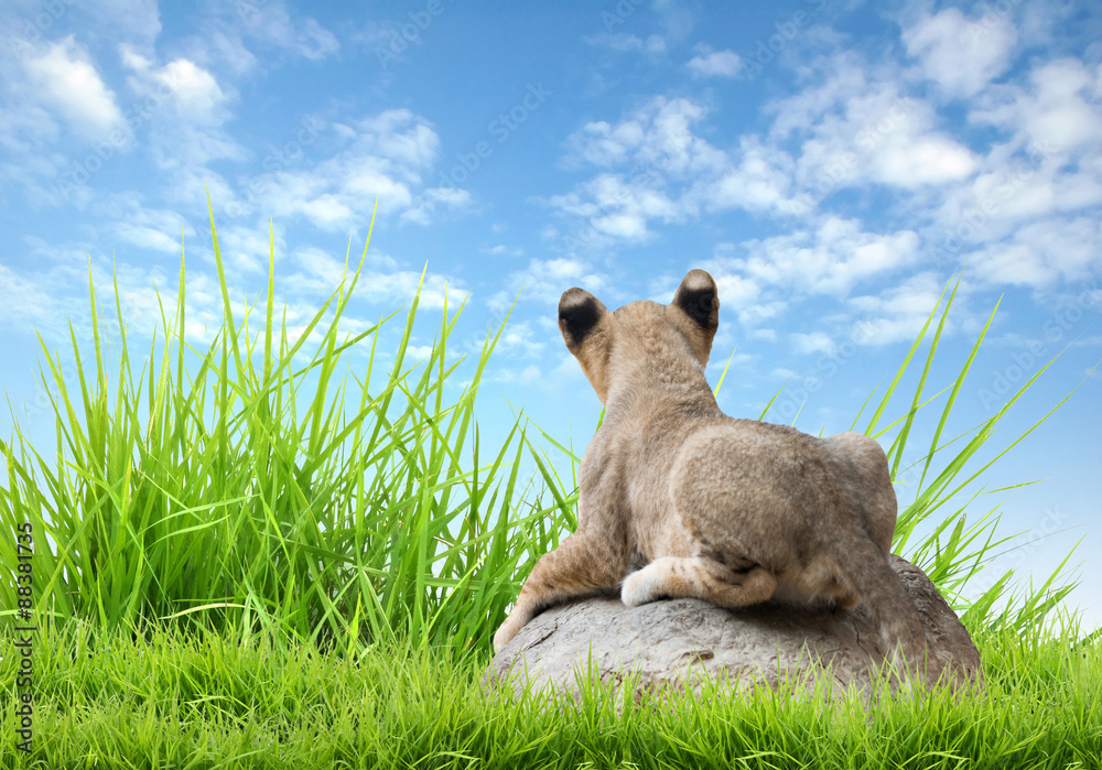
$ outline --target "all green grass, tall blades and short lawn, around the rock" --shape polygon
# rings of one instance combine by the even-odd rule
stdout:
[[[7,629],[22,606],[44,629],[39,767],[1100,767],[1098,635],[1083,641],[1062,610],[1067,560],[1039,586],[1007,571],[971,590],[1015,534],[986,500],[1022,485],[990,489],[990,468],[1048,415],[1003,444],[996,429],[1047,367],[954,434],[990,319],[930,394],[952,284],[853,425],[888,449],[896,550],[976,637],[988,696],[871,716],[784,693],[618,711],[598,691],[577,707],[479,695],[521,581],[576,525],[571,440],[521,417],[499,444],[480,440],[475,401],[501,328],[461,362],[462,307],[445,305],[431,354],[409,360],[418,300],[349,330],[353,263],[291,334],[274,252],[266,296],[235,315],[213,223],[212,238],[225,312],[212,341],[182,334],[183,260],[140,354],[117,292],[105,314],[89,281],[90,345],[75,332],[64,355],[42,343],[56,445],[34,446],[18,421],[0,440],[0,524],[34,532],[30,596],[14,538],[0,539],[0,707],[19,694]],[[14,741],[0,734],[0,766]]]

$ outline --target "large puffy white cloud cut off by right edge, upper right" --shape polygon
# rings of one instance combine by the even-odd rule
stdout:
[[[948,191],[929,238],[993,283],[1035,288],[1096,269],[1102,205],[1102,75],[1072,59],[990,86],[969,112],[998,134],[979,173]]]

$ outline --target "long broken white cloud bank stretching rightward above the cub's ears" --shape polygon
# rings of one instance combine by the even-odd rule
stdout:
[[[875,183],[919,195],[976,173],[981,159],[939,130],[933,106],[906,96],[890,68],[840,54],[817,77],[819,69],[820,84],[767,106],[769,132],[745,133],[737,148],[710,143],[698,128],[706,108],[684,98],[656,97],[618,122],[585,124],[568,140],[564,163],[599,173],[549,199],[583,223],[560,245],[572,254],[580,246],[647,242],[652,223],[733,208],[815,218],[846,187]]]

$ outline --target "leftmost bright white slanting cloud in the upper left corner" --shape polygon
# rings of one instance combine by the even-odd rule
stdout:
[[[73,35],[42,46],[25,67],[42,102],[57,110],[75,133],[93,141],[129,135],[115,93]]]

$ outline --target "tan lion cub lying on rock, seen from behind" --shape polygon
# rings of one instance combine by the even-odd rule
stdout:
[[[559,328],[605,420],[582,459],[577,531],[536,564],[495,650],[551,605],[619,588],[629,607],[863,601],[894,661],[917,668],[925,632],[887,563],[884,451],[857,433],[817,438],[721,412],[704,379],[719,311],[703,270],[669,305],[613,313],[581,289],[562,295]]]

